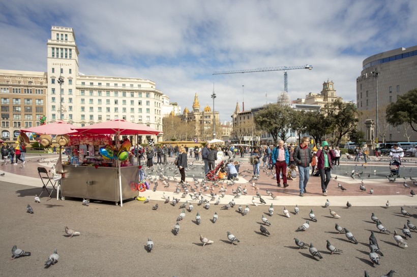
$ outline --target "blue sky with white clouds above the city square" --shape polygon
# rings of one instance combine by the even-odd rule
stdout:
[[[356,78],[369,56],[417,45],[417,1],[406,0],[0,0],[0,68],[46,71],[51,26],[72,27],[85,75],[152,80],[156,88],[230,121],[242,110],[276,102],[284,72],[213,75],[260,67],[289,70],[292,100],[334,82],[356,98]]]

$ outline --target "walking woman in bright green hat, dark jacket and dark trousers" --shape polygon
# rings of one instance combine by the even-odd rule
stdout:
[[[324,196],[327,196],[327,185],[330,182],[330,174],[332,170],[332,159],[336,157],[335,152],[329,147],[329,143],[324,141],[321,146],[323,149],[317,151],[316,157],[318,159],[317,169],[320,172],[321,191]]]

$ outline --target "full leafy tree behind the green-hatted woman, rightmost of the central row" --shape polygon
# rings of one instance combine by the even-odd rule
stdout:
[[[342,102],[336,100],[333,103],[324,106],[327,124],[326,133],[335,133],[335,145],[338,146],[342,137],[356,129],[358,123],[359,111],[352,102]]]

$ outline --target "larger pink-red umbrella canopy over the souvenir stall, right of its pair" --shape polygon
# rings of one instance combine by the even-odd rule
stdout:
[[[74,127],[73,130],[77,130],[80,134],[89,133],[89,134],[154,134],[157,135],[161,131],[155,130],[151,127],[148,127],[144,124],[137,124],[134,122],[129,122],[124,119],[114,119],[109,121],[104,121],[84,127]]]

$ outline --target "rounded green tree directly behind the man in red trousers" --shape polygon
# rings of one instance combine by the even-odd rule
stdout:
[[[278,138],[285,141],[290,136],[291,122],[295,115],[294,109],[272,103],[255,114],[254,122],[257,129],[269,132],[274,139],[274,144],[278,144]]]

